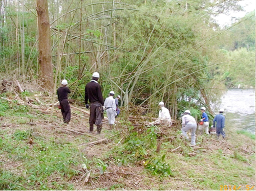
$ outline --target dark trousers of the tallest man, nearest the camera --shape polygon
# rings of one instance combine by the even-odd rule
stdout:
[[[100,103],[91,103],[89,119],[90,131],[93,131],[93,124],[97,126],[102,124],[101,107]]]

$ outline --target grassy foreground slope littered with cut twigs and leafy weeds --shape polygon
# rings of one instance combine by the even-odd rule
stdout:
[[[58,109],[50,118],[43,110],[0,100],[0,114],[1,189],[219,190],[220,185],[254,185],[254,139],[231,131],[228,122],[225,140],[202,135],[190,147],[179,127],[142,131],[119,119],[114,130],[103,126],[95,137],[87,135],[88,119],[79,111],[72,110],[72,122],[65,125]],[[103,138],[108,141],[88,144]]]

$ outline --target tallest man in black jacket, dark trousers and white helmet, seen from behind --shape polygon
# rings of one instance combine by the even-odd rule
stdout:
[[[93,125],[97,126],[96,134],[100,134],[102,129],[102,118],[104,117],[104,100],[101,92],[101,86],[98,84],[99,73],[93,73],[92,80],[86,85],[84,101],[86,108],[90,108],[90,133],[93,133]],[[88,100],[91,104],[89,106]]]

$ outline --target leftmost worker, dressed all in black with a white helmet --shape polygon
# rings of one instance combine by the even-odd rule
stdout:
[[[71,92],[67,87],[68,81],[62,80],[61,86],[57,90],[59,105],[63,116],[63,122],[69,124],[71,119],[71,110],[68,101],[68,94]]]

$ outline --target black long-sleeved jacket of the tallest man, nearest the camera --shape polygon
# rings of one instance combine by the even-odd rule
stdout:
[[[104,105],[101,86],[94,81],[91,81],[86,85],[84,96],[84,101],[86,104],[88,104],[88,99],[90,103],[99,101],[101,105]]]

